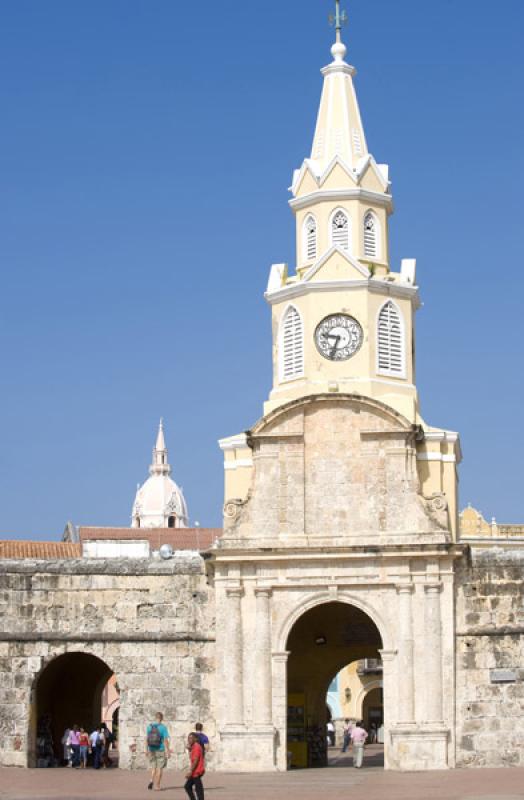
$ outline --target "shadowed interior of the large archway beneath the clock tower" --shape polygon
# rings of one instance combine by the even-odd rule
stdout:
[[[373,620],[347,603],[317,605],[295,622],[286,645],[287,752],[291,767],[327,766],[338,761],[339,748],[332,758],[328,747],[331,720],[327,704],[333,714],[334,703],[328,698],[339,691],[335,679],[352,662],[380,661],[381,648],[382,639]],[[332,723],[337,729],[334,714]]]

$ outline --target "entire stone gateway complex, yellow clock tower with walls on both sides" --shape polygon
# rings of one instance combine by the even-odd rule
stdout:
[[[524,526],[459,516],[458,434],[421,415],[416,262],[389,261],[389,170],[336,19],[292,180],[296,266],[265,295],[273,387],[220,441],[223,528],[187,527],[161,425],[130,528],[0,542],[2,765],[54,763],[108,681],[125,768],[158,710],[176,767],[197,721],[211,768],[322,764],[328,688],[365,659],[387,769],[524,765]]]

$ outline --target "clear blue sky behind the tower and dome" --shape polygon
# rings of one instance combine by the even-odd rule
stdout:
[[[160,416],[191,521],[220,524],[332,5],[0,0],[3,538],[127,525]],[[524,4],[345,6],[392,264],[418,259],[424,417],[461,434],[462,505],[524,521]]]

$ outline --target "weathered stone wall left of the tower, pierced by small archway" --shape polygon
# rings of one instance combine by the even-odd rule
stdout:
[[[85,653],[117,676],[121,765],[145,765],[145,726],[161,710],[182,767],[194,723],[215,734],[211,591],[196,554],[0,561],[0,765],[31,763],[40,676]]]

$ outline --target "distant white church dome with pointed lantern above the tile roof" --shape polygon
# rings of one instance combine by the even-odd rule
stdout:
[[[137,489],[131,514],[132,527],[187,528],[187,505],[182,489],[170,477],[162,420],[149,473],[150,477]]]

